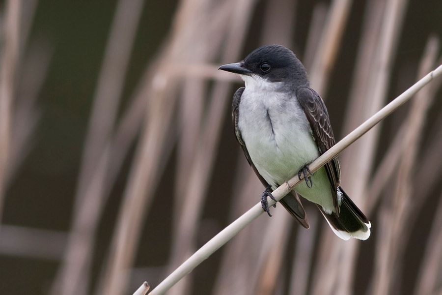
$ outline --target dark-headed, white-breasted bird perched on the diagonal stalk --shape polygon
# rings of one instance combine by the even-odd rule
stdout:
[[[265,45],[219,69],[239,74],[245,83],[233,95],[232,120],[236,139],[265,186],[263,210],[272,216],[267,197],[275,200],[272,191],[298,176],[305,181],[280,203],[304,228],[310,226],[299,196],[317,205],[336,236],[367,239],[371,223],[340,186],[339,160],[313,174],[308,169],[335,139],[324,101],[296,55],[282,45]]]

